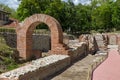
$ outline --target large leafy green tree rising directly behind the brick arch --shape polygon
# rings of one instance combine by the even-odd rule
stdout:
[[[53,16],[61,23],[64,31],[74,24],[74,4],[71,1],[65,3],[61,0],[21,0],[17,9],[17,16],[21,21],[36,13]]]

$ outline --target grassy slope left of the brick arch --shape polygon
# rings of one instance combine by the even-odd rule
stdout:
[[[18,67],[13,59],[14,49],[6,45],[4,39],[0,37],[0,73]]]

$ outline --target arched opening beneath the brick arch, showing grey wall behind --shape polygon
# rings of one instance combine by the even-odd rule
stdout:
[[[50,30],[45,23],[41,23],[36,26],[36,28],[34,29],[34,33],[32,34],[33,54],[35,54],[36,52],[38,54],[42,53],[42,55],[39,57],[44,57],[47,55],[47,52],[51,50],[50,34]]]

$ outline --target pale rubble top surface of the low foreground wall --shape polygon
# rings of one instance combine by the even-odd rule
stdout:
[[[49,68],[51,64],[57,67],[57,65],[55,64],[59,61],[64,61],[64,59],[67,59],[68,61],[67,63],[65,63],[66,65],[63,66],[65,67],[70,64],[69,56],[67,55],[51,55],[45,58],[33,60],[30,64],[27,64],[26,66],[1,74],[0,80],[2,78],[8,78],[9,80],[21,80],[19,79],[21,76],[24,76],[28,73],[32,74],[32,72],[36,72],[37,70],[42,71],[44,70],[44,67],[47,66]]]

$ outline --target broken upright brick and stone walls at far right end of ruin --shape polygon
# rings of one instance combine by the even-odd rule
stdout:
[[[89,53],[96,51],[107,50],[108,45],[120,46],[120,34],[118,33],[104,33],[104,34],[85,34],[80,35],[79,42],[86,42],[88,44]]]

